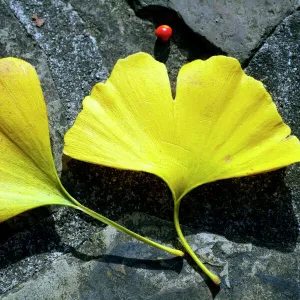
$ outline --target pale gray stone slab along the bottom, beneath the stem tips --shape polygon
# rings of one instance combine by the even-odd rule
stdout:
[[[128,227],[134,223],[143,235],[154,235],[167,245],[175,238],[172,223],[147,215],[127,215],[120,223]],[[183,229],[196,253],[221,273],[224,286],[218,299],[281,300],[299,296],[297,281],[290,278],[297,271],[296,253],[278,253]],[[196,300],[211,299],[213,292],[190,261],[173,258],[107,227],[2,299]]]

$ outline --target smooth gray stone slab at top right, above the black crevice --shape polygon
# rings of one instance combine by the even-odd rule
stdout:
[[[158,6],[176,11],[196,33],[241,62],[293,12],[297,0],[130,0],[138,13]]]

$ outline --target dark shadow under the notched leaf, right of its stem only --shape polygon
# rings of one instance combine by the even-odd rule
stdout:
[[[298,231],[285,170],[198,187],[183,199],[181,222],[235,242],[293,251]]]

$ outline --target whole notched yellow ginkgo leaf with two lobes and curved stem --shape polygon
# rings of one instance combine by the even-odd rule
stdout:
[[[96,84],[84,99],[64,152],[165,180],[179,237],[196,261],[178,221],[186,193],[204,183],[300,161],[300,143],[262,83],[224,56],[185,65],[175,100],[164,64],[145,53],[119,60],[107,82]]]

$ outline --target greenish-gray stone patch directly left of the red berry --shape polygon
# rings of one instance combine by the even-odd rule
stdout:
[[[92,26],[105,65],[111,71],[119,58],[144,51],[151,53],[155,44],[154,27],[137,18],[126,0],[69,1]]]

